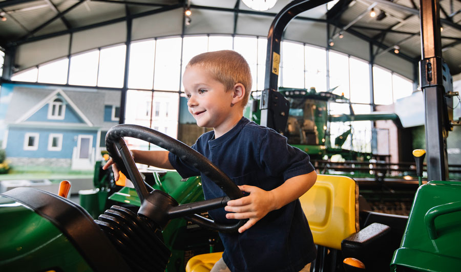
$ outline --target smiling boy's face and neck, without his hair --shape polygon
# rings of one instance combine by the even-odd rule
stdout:
[[[198,126],[212,127],[216,138],[233,128],[241,119],[237,109],[239,107],[233,104],[236,102],[235,92],[226,92],[224,84],[203,66],[187,67],[183,84],[189,112]]]

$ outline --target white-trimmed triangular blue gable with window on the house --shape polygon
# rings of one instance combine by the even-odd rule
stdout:
[[[55,90],[38,102],[15,123],[25,121],[85,123],[88,126],[93,126],[91,121],[61,89]]]

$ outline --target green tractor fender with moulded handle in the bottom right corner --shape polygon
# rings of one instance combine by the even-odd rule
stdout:
[[[429,182],[415,195],[391,268],[455,271],[461,267],[461,183]]]

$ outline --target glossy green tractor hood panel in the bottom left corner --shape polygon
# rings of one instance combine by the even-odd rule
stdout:
[[[44,217],[0,196],[0,271],[92,271],[69,240]]]

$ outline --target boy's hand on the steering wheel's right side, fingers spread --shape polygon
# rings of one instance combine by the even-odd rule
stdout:
[[[243,192],[250,193],[239,199],[229,200],[224,210],[227,219],[246,219],[249,220],[239,228],[239,233],[242,233],[251,228],[261,218],[266,216],[270,211],[275,210],[274,194],[271,191],[264,191],[261,188],[249,185],[239,186]]]

